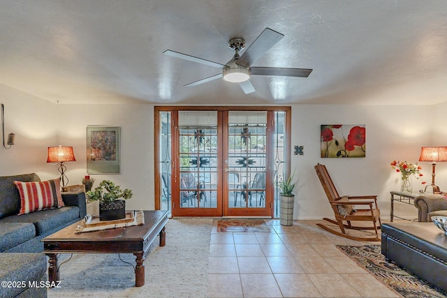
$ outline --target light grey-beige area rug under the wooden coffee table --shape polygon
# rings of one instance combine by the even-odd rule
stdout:
[[[145,256],[145,285],[135,287],[135,256],[73,254],[59,257],[60,288],[56,297],[206,297],[212,218],[170,219],[166,246],[157,237]],[[119,257],[124,260],[122,262]]]

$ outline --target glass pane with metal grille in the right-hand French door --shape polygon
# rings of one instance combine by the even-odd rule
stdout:
[[[228,112],[225,216],[270,215],[267,118],[267,112]]]

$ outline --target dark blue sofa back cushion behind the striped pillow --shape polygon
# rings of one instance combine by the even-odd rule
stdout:
[[[20,211],[20,195],[13,181],[41,181],[36,173],[0,177],[0,218]]]

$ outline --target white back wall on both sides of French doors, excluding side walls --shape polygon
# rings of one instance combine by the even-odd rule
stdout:
[[[304,156],[292,156],[292,169],[300,179],[295,202],[295,218],[314,219],[331,216],[332,210],[314,172],[316,163],[328,166],[332,179],[343,195],[379,195],[383,216],[390,214],[390,191],[400,188],[400,175],[390,163],[394,159],[416,163],[420,147],[430,144],[432,117],[427,106],[360,106],[360,105],[294,105],[292,110],[292,147],[303,145]],[[121,126],[122,174],[94,175],[97,181],[112,179],[131,188],[132,208],[154,208],[153,105],[61,105],[60,123],[64,123],[61,144],[70,143],[78,158],[68,168],[75,181],[85,172],[85,127],[87,125]],[[69,111],[69,112],[68,112]],[[365,124],[366,158],[321,158],[321,124]],[[423,165],[430,179],[430,165]],[[414,181],[415,191],[423,188]],[[396,213],[415,216],[411,206],[396,206]]]

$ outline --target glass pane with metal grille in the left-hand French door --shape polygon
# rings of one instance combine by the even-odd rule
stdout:
[[[184,111],[178,119],[179,200],[174,214],[219,216],[217,112]]]

